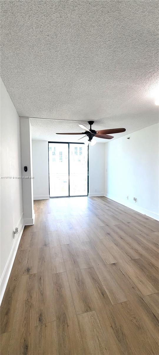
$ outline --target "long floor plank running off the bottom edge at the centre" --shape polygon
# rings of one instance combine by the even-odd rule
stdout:
[[[52,277],[59,355],[84,355],[67,274]]]

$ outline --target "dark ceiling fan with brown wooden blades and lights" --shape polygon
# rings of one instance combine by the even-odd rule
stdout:
[[[108,129],[108,130],[95,131],[95,130],[92,130],[92,125],[94,124],[94,121],[88,121],[88,124],[90,125],[90,129],[88,129],[87,127],[85,127],[81,124],[78,125],[85,130],[85,132],[82,132],[82,133],[56,133],[56,134],[66,134],[66,135],[81,135],[81,134],[83,135],[84,134],[84,136],[81,137],[80,139],[82,139],[84,137],[88,137],[88,140],[84,143],[89,144],[89,142],[90,142],[90,145],[94,146],[96,143],[96,140],[92,141],[92,139],[94,137],[103,138],[103,139],[112,139],[113,136],[109,136],[109,133],[120,133],[120,132],[126,131],[125,128],[113,128],[113,129]]]

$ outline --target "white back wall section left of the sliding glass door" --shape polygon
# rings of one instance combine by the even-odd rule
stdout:
[[[32,141],[34,200],[49,198],[48,142]]]

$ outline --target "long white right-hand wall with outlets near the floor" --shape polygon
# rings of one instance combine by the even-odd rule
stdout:
[[[158,219],[159,124],[108,142],[105,149],[105,195]]]

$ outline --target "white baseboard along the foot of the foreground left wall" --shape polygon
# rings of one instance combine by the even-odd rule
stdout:
[[[10,252],[10,255],[9,255],[8,260],[6,262],[6,266],[4,268],[4,271],[3,271],[1,279],[0,279],[0,304],[1,304],[2,298],[5,293],[7,282],[10,277],[13,262],[14,262],[14,259],[15,259],[16,253],[17,253],[17,249],[19,246],[20,238],[23,233],[23,229],[24,229],[23,215],[20,217],[17,227],[18,227],[19,232],[18,232],[18,234],[15,235],[12,250]]]

